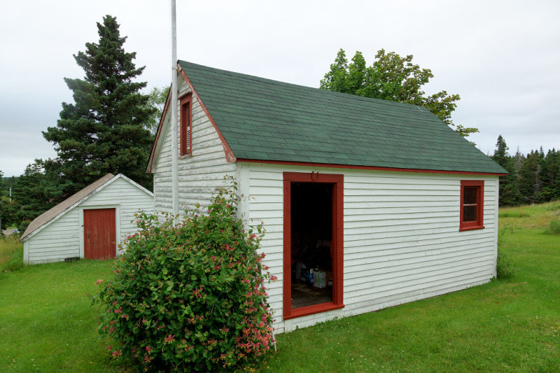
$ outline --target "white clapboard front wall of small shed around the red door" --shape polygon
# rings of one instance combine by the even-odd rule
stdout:
[[[117,244],[138,231],[133,220],[139,211],[153,213],[153,195],[122,175],[115,176],[97,192],[62,212],[24,242],[29,264],[83,258],[83,210],[116,209]]]

